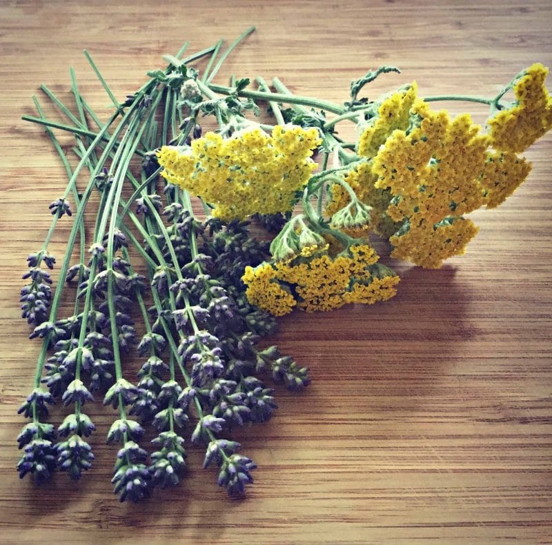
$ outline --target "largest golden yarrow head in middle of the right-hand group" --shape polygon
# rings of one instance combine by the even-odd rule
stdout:
[[[479,208],[486,135],[479,134],[469,115],[451,121],[447,112],[433,112],[421,100],[413,113],[422,119],[420,126],[408,135],[396,130],[373,161],[375,187],[389,188],[397,197],[387,213],[395,221],[420,215],[435,224]]]

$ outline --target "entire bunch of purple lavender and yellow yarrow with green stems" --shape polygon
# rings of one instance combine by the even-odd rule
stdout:
[[[111,117],[99,119],[72,70],[70,107],[41,87],[61,121],[48,119],[37,99],[38,116],[23,117],[46,129],[68,183],[23,275],[22,314],[41,349],[19,410],[29,419],[18,437],[21,477],[41,484],[57,468],[79,479],[94,460],[86,404],[103,397],[115,410],[107,442],[120,445],[112,483],[121,501],[179,483],[184,435],[206,446],[204,466],[217,467],[218,484],[242,493],[255,464],[231,432],[275,410],[264,375],[292,390],[309,381],[276,346],[259,346],[275,317],[393,297],[399,277],[380,263],[372,233],[388,240],[392,257],[425,268],[462,254],[477,232],[465,216],[511,195],[531,168],[519,154],[552,128],[540,64],[491,98],[422,99],[415,83],[364,97],[366,84],[399,72],[393,66],[353,81],[342,104],[293,95],[277,78],[273,90],[260,77],[213,83],[251,30],[224,52],[219,41],[186,56],[186,44],[122,101],[85,52]],[[504,99],[509,91],[513,102]],[[488,130],[431,108],[444,99],[487,104]],[[261,122],[255,116],[267,105],[271,117]],[[210,119],[217,130],[203,134]],[[359,137],[344,141],[337,126],[351,122]],[[63,148],[53,129],[72,133],[75,145]],[[54,284],[50,239],[68,217]],[[252,221],[273,233],[270,244]],[[68,293],[72,310],[61,315]],[[137,378],[124,365],[129,353],[143,362]],[[48,406],[57,399],[68,414],[55,426]],[[140,446],[144,426],[157,434],[149,455]]]

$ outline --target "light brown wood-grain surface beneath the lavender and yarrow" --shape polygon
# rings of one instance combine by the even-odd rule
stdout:
[[[39,352],[19,317],[21,273],[65,186],[49,140],[20,116],[34,113],[42,82],[68,97],[70,66],[90,103],[108,106],[81,50],[119,97],[186,39],[199,50],[250,24],[257,32],[219,81],[278,75],[299,94],[342,101],[349,81],[387,63],[402,75],[382,77],[371,96],[416,79],[422,95],[491,97],[521,68],[552,65],[547,0],[340,5],[1,2],[0,542],[552,541],[550,135],[526,152],[526,184],[472,215],[480,234],[467,255],[437,271],[400,267],[386,304],[280,321],[270,340],[311,368],[313,384],[302,395],[277,388],[273,419],[239,432],[259,466],[246,499],[228,499],[190,448],[181,486],[119,504],[117,448],[103,444],[112,413],[97,404],[97,460],[81,482],[56,475],[39,489],[17,477],[16,410]],[[477,105],[444,106],[484,119]]]

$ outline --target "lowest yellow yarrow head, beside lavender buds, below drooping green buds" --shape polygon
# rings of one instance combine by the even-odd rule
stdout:
[[[328,246],[312,248],[287,261],[248,268],[243,277],[246,295],[251,303],[271,313],[290,312],[293,306],[315,312],[354,302],[384,301],[395,295],[399,278],[391,269],[376,264],[377,259],[368,244],[353,245],[334,257],[328,254]],[[282,293],[270,283],[293,294],[295,305],[282,304]]]

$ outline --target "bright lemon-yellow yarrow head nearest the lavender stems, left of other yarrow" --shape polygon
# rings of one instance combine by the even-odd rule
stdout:
[[[316,168],[311,156],[320,142],[315,128],[277,125],[268,135],[255,124],[230,138],[208,132],[187,148],[163,146],[157,159],[164,178],[229,221],[291,210]]]

